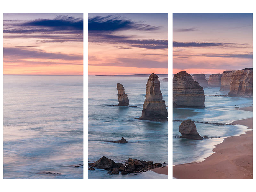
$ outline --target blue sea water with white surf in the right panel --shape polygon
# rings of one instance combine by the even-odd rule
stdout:
[[[240,135],[248,131],[244,125],[213,125],[207,123],[229,124],[235,120],[252,117],[252,112],[238,110],[252,106],[252,98],[224,97],[228,92],[220,92],[220,87],[204,88],[205,108],[173,108],[174,120],[199,121],[195,123],[197,132],[203,140],[179,138],[181,121],[173,122],[173,164],[203,161],[210,156],[214,145],[221,143],[228,136]]]

